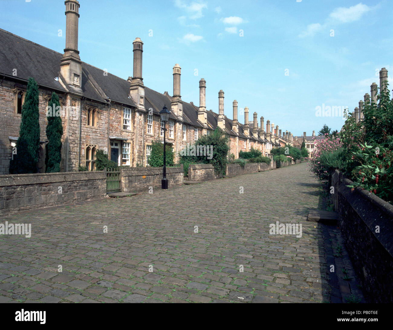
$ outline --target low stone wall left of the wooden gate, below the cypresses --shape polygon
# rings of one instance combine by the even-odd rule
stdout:
[[[0,214],[103,198],[103,171],[0,175]]]

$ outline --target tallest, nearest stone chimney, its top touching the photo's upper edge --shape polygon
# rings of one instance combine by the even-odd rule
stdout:
[[[82,92],[82,61],[78,50],[79,2],[66,0],[66,48],[61,58],[60,73],[67,89]]]

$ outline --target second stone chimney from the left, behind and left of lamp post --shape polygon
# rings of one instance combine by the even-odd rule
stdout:
[[[132,46],[134,53],[134,73],[130,84],[130,97],[132,97],[138,109],[144,110],[145,86],[143,86],[142,78],[143,42],[140,38],[135,38]]]

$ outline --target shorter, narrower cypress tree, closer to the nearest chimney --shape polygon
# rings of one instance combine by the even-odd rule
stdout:
[[[59,96],[53,92],[49,101],[50,108],[46,113],[48,124],[46,125],[46,137],[48,144],[46,145],[46,173],[60,172],[61,162],[61,137],[63,134],[63,126],[61,125],[61,107]]]

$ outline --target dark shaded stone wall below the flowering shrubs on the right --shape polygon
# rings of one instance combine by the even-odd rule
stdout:
[[[369,303],[393,301],[393,206],[335,171],[338,222],[354,270]]]

